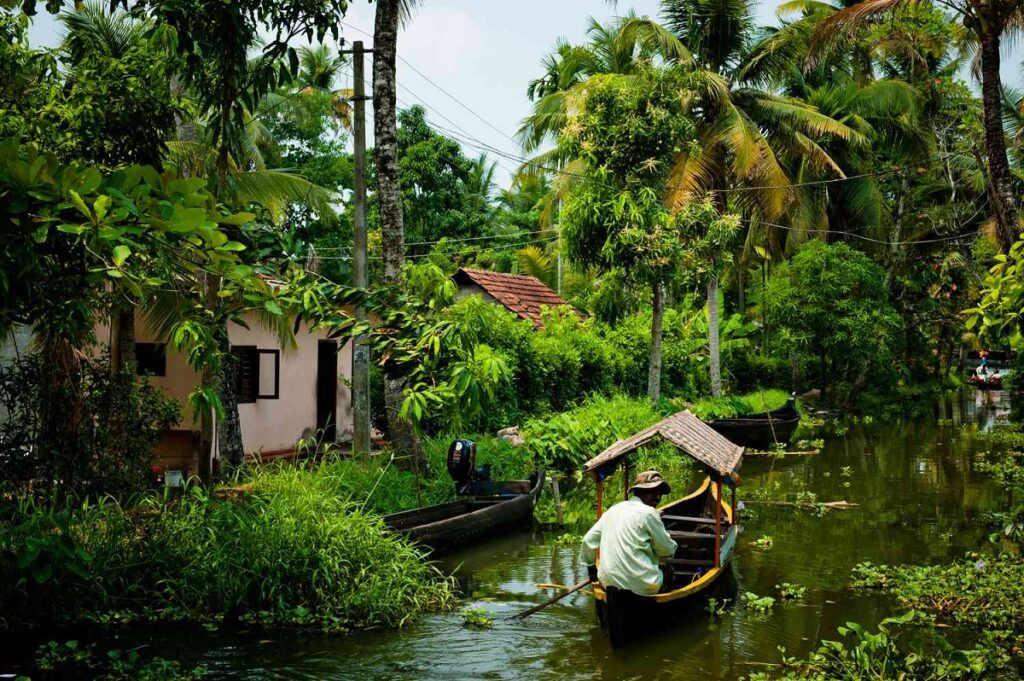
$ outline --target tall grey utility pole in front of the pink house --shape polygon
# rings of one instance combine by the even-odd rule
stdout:
[[[362,41],[352,43],[352,101],[354,102],[353,143],[355,146],[355,215],[354,253],[352,256],[352,284],[364,291],[369,287],[367,270],[367,97],[362,56],[373,50],[362,49]],[[343,50],[349,53],[349,50]],[[355,308],[355,318],[367,321],[362,305]],[[352,455],[370,456],[370,348],[366,335],[358,335],[352,342]]]

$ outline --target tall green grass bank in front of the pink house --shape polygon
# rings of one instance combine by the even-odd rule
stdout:
[[[332,466],[260,468],[229,499],[190,487],[0,516],[7,626],[221,621],[333,631],[399,627],[454,602],[454,585]]]

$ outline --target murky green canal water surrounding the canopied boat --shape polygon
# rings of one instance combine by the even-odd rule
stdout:
[[[442,559],[465,604],[495,618],[489,630],[464,628],[456,612],[400,632],[341,637],[154,637],[147,652],[205,665],[219,679],[738,679],[778,663],[780,646],[803,656],[820,638],[837,638],[846,622],[873,627],[896,612],[886,596],[849,588],[857,563],[934,563],[985,546],[979,516],[999,498],[971,469],[972,435],[1005,418],[1008,401],[996,392],[965,392],[932,418],[840,428],[817,456],[748,459],[749,498],[777,485],[858,506],[818,515],[748,505],[734,579],[719,594],[732,600],[725,616],[698,605],[625,650],[609,648],[586,593],[525,621],[504,619],[557,593],[538,585],[586,578],[575,542],[536,527]],[[770,546],[756,544],[766,537]],[[777,597],[783,582],[807,588],[803,602],[777,602],[767,614],[736,604],[743,592]]]

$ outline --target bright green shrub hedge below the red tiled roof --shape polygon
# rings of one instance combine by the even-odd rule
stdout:
[[[421,421],[428,431],[456,425],[497,430],[521,425],[531,416],[570,409],[589,395],[644,394],[650,352],[649,312],[611,326],[593,317],[582,320],[568,309],[552,309],[544,315],[544,327],[535,329],[529,322],[478,297],[453,300],[451,287],[442,286],[443,275],[429,266],[410,271],[411,282],[428,282],[429,307],[436,310],[427,327],[431,333],[414,339],[409,350],[428,372],[425,375],[433,377],[418,379],[421,388],[414,384],[409,391],[417,399],[418,390],[424,391],[425,416]],[[707,390],[708,321],[705,311],[693,305],[688,296],[665,312],[666,398],[694,400]],[[443,342],[435,344],[436,324],[451,329],[443,332]],[[754,332],[754,327],[738,315],[727,320],[720,331],[726,357],[746,348]],[[467,358],[470,348],[476,349],[472,358]],[[424,361],[424,355],[429,360]],[[487,366],[496,365],[504,368],[499,375],[488,378],[481,374]],[[461,373],[449,374],[452,370]],[[460,377],[467,373],[480,375],[478,380],[463,382]],[[427,389],[439,384],[443,389]],[[474,385],[482,392],[468,392]],[[457,408],[440,407],[450,405],[455,395],[459,395]]]

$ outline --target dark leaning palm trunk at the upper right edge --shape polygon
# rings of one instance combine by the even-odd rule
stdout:
[[[1020,238],[1013,177],[1007,159],[1002,129],[1002,82],[999,77],[999,32],[979,32],[981,50],[981,100],[985,116],[985,151],[988,156],[989,196],[995,210],[996,237],[1004,253]]]

